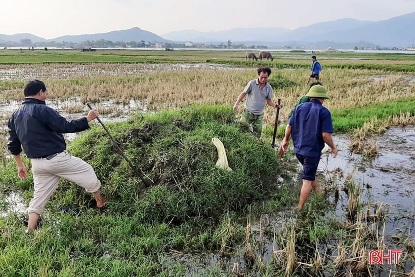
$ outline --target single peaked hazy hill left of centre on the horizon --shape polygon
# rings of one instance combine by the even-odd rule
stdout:
[[[50,41],[55,42],[71,42],[71,43],[80,43],[85,41],[99,41],[100,39],[105,39],[106,41],[112,42],[165,42],[167,39],[164,39],[155,33],[145,31],[139,27],[134,27],[128,30],[119,30],[111,31],[107,33],[96,33],[96,34],[81,34],[81,35],[65,35],[59,36]]]

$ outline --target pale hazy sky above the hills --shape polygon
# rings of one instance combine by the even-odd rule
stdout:
[[[164,34],[295,29],[339,18],[377,21],[415,12],[415,0],[0,0],[0,10],[0,33],[54,38],[132,27]]]

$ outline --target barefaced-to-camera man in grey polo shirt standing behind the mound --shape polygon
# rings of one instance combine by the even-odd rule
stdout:
[[[278,104],[272,102],[272,87],[267,82],[268,77],[271,75],[271,68],[260,67],[257,72],[258,78],[248,82],[245,89],[236,99],[233,110],[235,112],[238,111],[239,103],[247,95],[241,122],[251,125],[254,135],[261,137],[265,103],[273,108],[278,108]]]

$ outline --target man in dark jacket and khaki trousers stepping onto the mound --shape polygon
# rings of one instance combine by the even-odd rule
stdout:
[[[101,182],[92,166],[71,156],[66,150],[62,133],[77,133],[89,129],[89,122],[98,117],[96,109],[90,110],[86,117],[66,121],[56,110],[46,105],[48,91],[43,82],[30,81],[24,89],[24,101],[9,119],[8,149],[17,164],[17,175],[27,177],[20,153],[22,146],[26,156],[31,159],[34,192],[29,204],[29,223],[27,231],[36,228],[39,215],[49,198],[58,187],[59,179],[69,181],[93,193],[99,208],[107,204],[101,195]]]

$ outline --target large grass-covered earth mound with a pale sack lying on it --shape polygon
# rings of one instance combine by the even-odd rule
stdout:
[[[143,222],[178,224],[239,211],[261,199],[278,175],[275,152],[248,134],[226,106],[192,106],[137,116],[114,125],[112,132],[134,166],[153,180],[145,195],[143,183],[102,128],[75,141],[72,153],[96,169],[111,200],[110,213],[139,213]],[[232,172],[215,167],[218,153],[213,137],[223,142]],[[80,205],[83,194],[75,189],[72,201]]]

